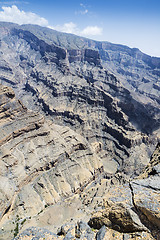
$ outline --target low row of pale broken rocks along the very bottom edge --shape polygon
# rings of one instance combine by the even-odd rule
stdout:
[[[79,224],[79,223],[78,223]],[[91,229],[78,229],[78,224],[73,227],[67,225],[62,226],[62,231],[60,236],[56,236],[54,233],[48,231],[47,229],[43,228],[28,228],[23,233],[21,233],[16,240],[28,240],[32,239],[33,237],[41,237],[46,239],[81,239],[81,240],[152,240],[154,239],[150,233],[147,232],[138,232],[138,233],[120,233],[113,229],[106,228],[103,226],[98,232]],[[78,233],[78,234],[77,234]]]

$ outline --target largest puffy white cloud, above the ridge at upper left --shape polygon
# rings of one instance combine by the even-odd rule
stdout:
[[[37,24],[40,26],[48,26],[48,21],[32,12],[24,12],[13,5],[12,7],[2,7],[0,11],[0,21],[14,22],[18,24]]]

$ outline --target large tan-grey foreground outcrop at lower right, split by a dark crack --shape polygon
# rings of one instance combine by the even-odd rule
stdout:
[[[93,213],[89,220],[91,227],[100,229],[105,225],[123,233],[149,229],[154,239],[160,238],[159,150],[158,144],[142,175],[129,185],[115,185],[103,195],[103,210]]]

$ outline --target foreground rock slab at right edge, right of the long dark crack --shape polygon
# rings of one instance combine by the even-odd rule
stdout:
[[[136,208],[147,219],[148,225],[155,228],[155,235],[160,237],[160,144],[152,155],[150,164],[138,179],[132,181],[133,199]]]

